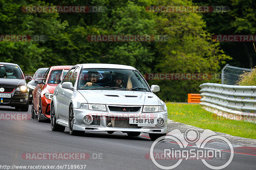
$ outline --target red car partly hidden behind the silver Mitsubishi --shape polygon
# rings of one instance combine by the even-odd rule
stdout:
[[[32,119],[37,117],[39,122],[50,119],[53,92],[71,67],[68,65],[52,66],[46,71],[44,78],[35,80],[38,85],[32,92]]]

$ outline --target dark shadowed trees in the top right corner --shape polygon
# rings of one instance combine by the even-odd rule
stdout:
[[[192,0],[196,5],[228,6],[227,13],[203,13],[205,29],[215,35],[254,35],[256,31],[255,0]],[[220,42],[225,54],[232,56],[230,65],[252,68],[256,65],[252,42]],[[222,65],[224,66],[224,65]]]

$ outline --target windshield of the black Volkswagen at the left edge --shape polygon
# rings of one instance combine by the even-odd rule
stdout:
[[[16,78],[16,79],[23,79],[21,71],[19,67],[0,64],[0,78]]]

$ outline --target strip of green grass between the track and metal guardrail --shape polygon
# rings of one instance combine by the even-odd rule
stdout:
[[[204,110],[199,104],[166,102],[168,118],[203,129],[256,139],[256,123],[230,120]]]

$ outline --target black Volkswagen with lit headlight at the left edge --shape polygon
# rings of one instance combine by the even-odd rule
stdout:
[[[0,107],[11,106],[28,111],[28,92],[20,66],[0,62]]]

